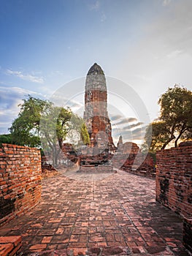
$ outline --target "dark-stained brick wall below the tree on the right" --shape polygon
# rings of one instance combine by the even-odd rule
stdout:
[[[156,200],[185,218],[192,213],[192,146],[157,153]]]

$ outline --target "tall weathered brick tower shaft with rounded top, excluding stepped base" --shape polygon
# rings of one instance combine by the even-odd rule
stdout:
[[[104,72],[98,64],[89,69],[85,81],[84,120],[91,140],[91,147],[114,151],[112,129],[107,113],[107,86]]]

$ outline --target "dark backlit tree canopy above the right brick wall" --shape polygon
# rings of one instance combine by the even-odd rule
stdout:
[[[169,88],[158,100],[160,116],[147,128],[145,141],[150,136],[150,151],[164,149],[170,142],[177,147],[179,140],[192,138],[192,92],[175,85]]]

